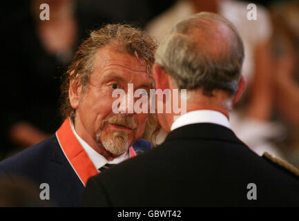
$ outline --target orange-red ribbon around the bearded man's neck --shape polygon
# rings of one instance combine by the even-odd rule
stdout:
[[[82,184],[86,186],[89,177],[97,175],[99,171],[95,168],[93,162],[91,162],[84,148],[79,144],[79,141],[75,137],[72,128],[70,126],[70,119],[67,118],[61,127],[56,131],[56,137],[59,142],[59,146],[64,153],[66,159],[73,167],[73,170],[81,180]],[[129,148],[129,156],[135,157],[136,153],[131,146]]]

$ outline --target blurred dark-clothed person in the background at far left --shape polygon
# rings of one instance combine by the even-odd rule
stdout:
[[[39,18],[41,3],[49,3],[50,20]],[[8,155],[41,142],[61,124],[60,77],[82,37],[75,1],[35,0],[17,12],[7,18],[3,33],[6,108],[1,119]]]

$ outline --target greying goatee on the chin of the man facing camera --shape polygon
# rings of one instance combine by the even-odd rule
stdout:
[[[106,151],[115,155],[122,155],[128,151],[130,144],[128,143],[128,133],[125,131],[115,131],[101,140],[102,130],[99,130],[96,134],[96,140],[98,144],[101,144]]]

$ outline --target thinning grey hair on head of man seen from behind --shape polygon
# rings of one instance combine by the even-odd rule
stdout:
[[[238,90],[244,46],[233,24],[220,15],[200,12],[175,24],[155,52],[159,64],[180,89],[202,88],[204,95]]]

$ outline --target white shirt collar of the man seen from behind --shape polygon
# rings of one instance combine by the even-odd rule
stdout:
[[[221,126],[229,126],[229,119],[227,117],[218,112],[211,110],[197,110],[190,111],[178,117],[175,122],[171,125],[171,131],[176,128],[186,126],[188,124],[199,124],[199,123],[211,123],[211,124],[219,124]]]

